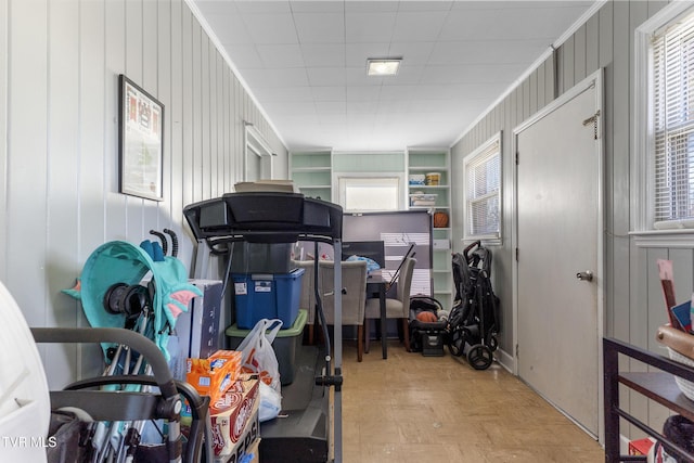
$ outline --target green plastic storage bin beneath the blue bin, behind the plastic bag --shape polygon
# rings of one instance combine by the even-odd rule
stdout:
[[[280,383],[282,386],[292,384],[296,369],[296,351],[301,345],[304,326],[308,320],[308,311],[301,309],[294,320],[294,324],[286,330],[280,330],[272,342],[272,350],[278,358],[280,369]],[[229,326],[224,333],[229,339],[231,350],[239,347],[241,342],[250,333],[250,330],[242,330],[236,323]]]

